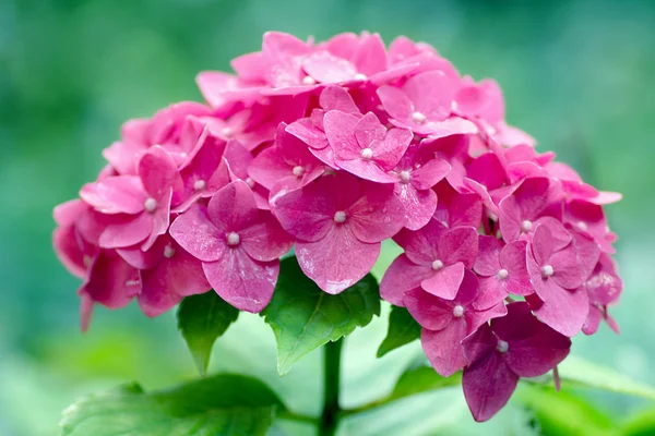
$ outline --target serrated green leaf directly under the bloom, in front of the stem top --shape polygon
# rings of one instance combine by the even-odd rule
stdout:
[[[288,373],[303,355],[366,326],[373,315],[380,315],[380,294],[371,275],[331,295],[305,276],[295,257],[285,258],[273,299],[262,312],[277,339],[277,372]]]

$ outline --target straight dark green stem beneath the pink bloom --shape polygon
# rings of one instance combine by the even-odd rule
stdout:
[[[323,414],[321,415],[319,436],[336,435],[336,426],[341,414],[338,405],[341,349],[343,338],[336,342],[327,342],[323,358]]]

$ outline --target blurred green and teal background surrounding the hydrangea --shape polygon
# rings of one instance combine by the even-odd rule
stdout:
[[[123,120],[200,99],[194,75],[227,70],[269,29],[324,39],[379,32],[434,45],[462,73],[495,77],[508,119],[591,183],[620,191],[607,208],[620,235],[626,289],[606,326],[576,338],[573,354],[655,385],[655,2],[430,0],[2,0],[0,1],[0,435],[56,434],[76,397],[136,379],[146,388],[194,377],[172,314],[98,310],[78,329],[76,279],[50,246],[52,207],[102,167]],[[374,360],[385,318],[346,344],[344,402],[388,391],[417,344]],[[214,350],[212,371],[265,378],[300,411],[317,413],[320,353],[279,379],[272,332],[241,316]],[[425,395],[344,424],[343,434],[526,434],[508,408],[472,426],[458,391]],[[609,420],[647,403],[590,393]],[[394,424],[403,415],[404,427]],[[407,426],[407,416],[412,425]],[[402,428],[402,429],[401,429]],[[286,425],[278,434],[311,434]]]

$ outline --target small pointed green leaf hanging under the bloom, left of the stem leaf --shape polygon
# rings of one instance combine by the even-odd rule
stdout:
[[[214,291],[186,296],[178,308],[178,328],[200,374],[210,363],[212,347],[229,325],[237,320],[239,311],[226,303]]]

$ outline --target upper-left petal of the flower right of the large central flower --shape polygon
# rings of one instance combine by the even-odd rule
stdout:
[[[417,231],[401,230],[394,241],[405,250],[407,257],[418,265],[432,265],[439,259],[438,243],[445,232],[445,226],[431,219]]]

